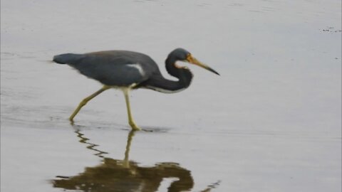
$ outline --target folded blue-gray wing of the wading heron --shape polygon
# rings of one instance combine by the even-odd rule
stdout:
[[[149,56],[127,50],[109,50],[86,54],[71,54],[65,62],[81,74],[104,85],[129,86],[147,80],[159,72]]]

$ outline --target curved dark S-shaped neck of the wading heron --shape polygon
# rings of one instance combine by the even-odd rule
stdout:
[[[178,80],[167,80],[166,78],[159,76],[158,79],[150,81],[148,88],[165,93],[180,92],[189,87],[192,80],[192,73],[188,68],[176,67],[177,60],[174,58],[167,58],[165,60],[165,67],[167,73],[177,78]]]

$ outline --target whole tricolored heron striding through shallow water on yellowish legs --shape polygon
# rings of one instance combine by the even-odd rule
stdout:
[[[100,90],[81,101],[69,117],[71,122],[89,100],[105,90],[119,88],[125,95],[128,123],[134,130],[140,130],[140,128],[135,124],[130,111],[129,91],[147,88],[159,92],[179,92],[189,87],[192,73],[187,67],[177,65],[178,60],[198,65],[219,75],[215,70],[192,57],[191,53],[183,48],[172,50],[165,60],[167,73],[178,78],[177,81],[165,79],[160,73],[157,63],[148,55],[128,50],[107,50],[85,54],[66,53],[53,57],[54,62],[68,64],[81,74],[103,84]]]

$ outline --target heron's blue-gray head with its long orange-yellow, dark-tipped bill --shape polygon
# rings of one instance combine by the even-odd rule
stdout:
[[[184,62],[197,65],[197,66],[199,66],[201,68],[204,68],[206,70],[211,71],[212,73],[215,73],[215,74],[219,75],[219,73],[217,73],[216,70],[213,70],[208,65],[205,65],[204,63],[199,62],[199,60],[194,58],[192,56],[192,54],[189,51],[185,50],[184,48],[176,48],[175,50],[172,50],[172,52],[170,53],[169,57],[170,56],[175,57],[176,60],[182,60]]]

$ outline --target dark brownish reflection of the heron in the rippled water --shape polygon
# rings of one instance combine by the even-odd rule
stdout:
[[[108,152],[98,148],[98,144],[90,142],[81,127],[74,126],[79,142],[86,144],[87,149],[95,151],[100,157],[101,164],[86,167],[83,173],[76,176],[56,176],[52,180],[53,187],[65,190],[115,192],[115,191],[158,191],[164,178],[177,178],[170,183],[167,191],[190,191],[194,186],[191,171],[182,168],[174,162],[157,163],[155,166],[139,166],[135,161],[129,160],[130,145],[135,137],[135,131],[128,133],[125,146],[124,159],[105,157]],[[148,127],[145,132],[162,132],[163,129]],[[219,183],[209,185],[203,191],[211,191]]]

